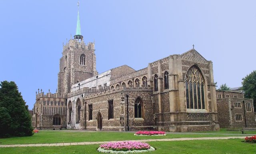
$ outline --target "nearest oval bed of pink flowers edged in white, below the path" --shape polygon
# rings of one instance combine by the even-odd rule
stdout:
[[[154,151],[155,149],[147,143],[136,141],[119,141],[101,144],[97,149],[104,153],[137,153]]]

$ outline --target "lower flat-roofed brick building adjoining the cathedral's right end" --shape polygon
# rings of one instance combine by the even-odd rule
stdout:
[[[245,99],[242,91],[216,91],[220,127],[256,127],[253,99]]]

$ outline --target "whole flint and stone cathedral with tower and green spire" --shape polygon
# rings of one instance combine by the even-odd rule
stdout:
[[[98,74],[94,43],[84,43],[80,19],[63,45],[55,94],[36,92],[32,126],[98,131],[218,131],[213,66],[195,49]],[[252,108],[253,109],[253,108]]]

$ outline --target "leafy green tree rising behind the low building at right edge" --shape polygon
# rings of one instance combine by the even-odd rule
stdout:
[[[253,99],[254,112],[256,111],[256,70],[242,78],[242,90],[244,97]]]

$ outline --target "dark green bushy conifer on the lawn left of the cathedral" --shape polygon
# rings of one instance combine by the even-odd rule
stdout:
[[[2,129],[5,129],[5,133],[10,136],[33,135],[28,107],[21,93],[18,92],[18,87],[15,82],[3,81],[0,87],[0,107],[4,112],[0,116],[7,118],[8,115],[10,116],[9,125],[1,125]]]

